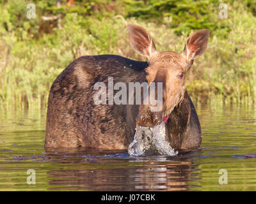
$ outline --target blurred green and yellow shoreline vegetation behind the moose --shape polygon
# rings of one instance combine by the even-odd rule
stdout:
[[[218,0],[56,2],[33,1],[36,18],[28,19],[31,1],[0,1],[0,108],[45,108],[53,80],[81,55],[145,60],[129,46],[116,15],[147,28],[159,51],[181,52],[189,34],[210,29],[207,52],[187,76],[189,94],[198,103],[256,99],[255,0],[226,1],[227,19],[218,17]]]

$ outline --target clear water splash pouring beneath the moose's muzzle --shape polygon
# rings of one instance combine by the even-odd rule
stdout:
[[[134,140],[128,147],[131,156],[152,154],[175,156],[178,154],[165,140],[164,122],[154,126],[154,128],[142,127],[137,124],[135,131]]]

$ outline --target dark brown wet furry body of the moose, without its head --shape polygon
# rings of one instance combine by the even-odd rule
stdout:
[[[145,82],[147,66],[147,62],[117,55],[84,56],[72,62],[51,87],[45,147],[127,149],[134,137],[139,105],[95,105],[93,85],[104,82],[108,90],[108,77],[127,87],[128,82]],[[200,147],[200,124],[187,92],[166,126],[173,148]]]

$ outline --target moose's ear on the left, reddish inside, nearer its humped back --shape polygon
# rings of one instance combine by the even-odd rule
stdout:
[[[149,59],[157,53],[154,41],[148,31],[138,25],[127,25],[129,43],[138,54]]]

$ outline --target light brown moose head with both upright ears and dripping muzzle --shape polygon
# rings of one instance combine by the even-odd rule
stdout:
[[[138,25],[127,25],[129,43],[134,50],[147,57],[148,67],[145,69],[148,87],[161,82],[163,93],[161,110],[153,111],[156,103],[148,98],[142,99],[136,123],[140,126],[154,127],[168,120],[175,106],[184,98],[186,91],[186,72],[191,68],[196,57],[202,55],[207,47],[209,30],[204,29],[191,34],[186,41],[183,52],[157,52],[154,41],[148,31]],[[154,82],[154,83],[152,83]],[[157,92],[157,88],[154,89]]]

